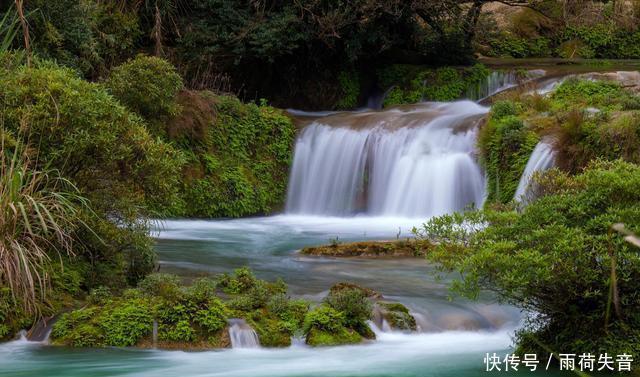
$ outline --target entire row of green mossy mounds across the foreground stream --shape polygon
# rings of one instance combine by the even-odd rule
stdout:
[[[304,336],[312,346],[340,345],[375,338],[366,323],[374,305],[384,308],[394,328],[415,330],[415,323],[399,320],[408,315],[403,305],[374,304],[379,295],[353,284],[336,284],[319,304],[286,293],[282,280],[259,280],[246,268],[190,285],[152,274],[121,296],[106,287],[92,290],[88,305],[63,314],[51,337],[74,347],[152,347],[155,341],[161,348],[224,348],[230,346],[228,320],[244,319],[264,347],[289,346],[292,336]]]

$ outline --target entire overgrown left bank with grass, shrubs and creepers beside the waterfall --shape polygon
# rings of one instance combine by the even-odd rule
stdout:
[[[17,305],[1,308],[2,337],[83,291],[121,290],[151,272],[149,217],[236,217],[282,205],[294,129],[281,111],[185,91],[155,57],[127,61],[103,83],[24,59],[0,58],[3,206],[26,201],[3,228],[16,253],[3,253],[2,295]],[[26,262],[10,259],[19,252]]]

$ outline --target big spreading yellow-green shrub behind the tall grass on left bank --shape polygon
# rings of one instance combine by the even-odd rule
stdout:
[[[0,116],[8,132],[32,135],[38,165],[58,169],[92,205],[81,214],[75,254],[91,268],[86,285],[134,283],[154,265],[146,203],[172,201],[181,155],[106,90],[49,62],[0,68]],[[108,214],[108,216],[107,216]],[[99,238],[96,237],[96,234]]]

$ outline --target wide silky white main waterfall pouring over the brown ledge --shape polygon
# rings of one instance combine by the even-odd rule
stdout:
[[[459,101],[316,120],[296,142],[287,212],[428,217],[481,206],[474,151],[486,112]]]

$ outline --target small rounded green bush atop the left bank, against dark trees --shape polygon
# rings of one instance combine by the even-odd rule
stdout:
[[[109,92],[120,103],[148,120],[176,115],[176,96],[182,89],[182,78],[164,59],[138,55],[115,67],[105,82]]]

